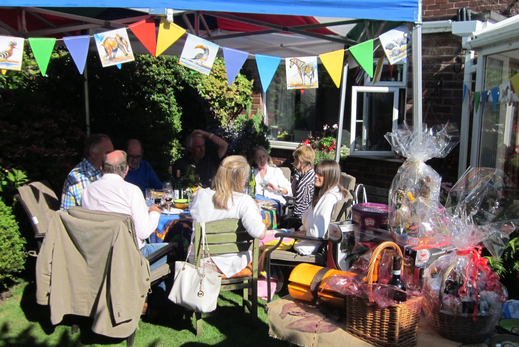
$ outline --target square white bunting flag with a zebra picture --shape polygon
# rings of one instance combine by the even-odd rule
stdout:
[[[318,88],[317,57],[285,58],[286,89]]]

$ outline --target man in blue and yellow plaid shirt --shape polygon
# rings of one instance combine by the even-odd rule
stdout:
[[[110,137],[104,134],[91,134],[85,140],[85,157],[70,171],[63,185],[61,209],[81,205],[81,194],[85,187],[101,178],[103,155],[112,152],[114,146]]]

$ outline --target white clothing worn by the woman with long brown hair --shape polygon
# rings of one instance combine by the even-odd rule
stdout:
[[[303,213],[301,220],[303,226],[301,230],[306,230],[306,236],[320,237],[323,238],[328,231],[328,225],[332,217],[332,211],[335,203],[343,198],[339,189],[335,186],[331,190],[327,191],[326,194],[321,196],[317,202],[315,208],[310,206]],[[321,245],[320,242],[302,240],[294,249],[300,254],[307,256],[312,254]]]

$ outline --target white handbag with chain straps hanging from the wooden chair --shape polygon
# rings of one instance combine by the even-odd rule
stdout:
[[[202,257],[201,266],[196,266],[187,262],[193,243],[189,245],[186,261],[175,263],[175,277],[173,288],[169,293],[168,299],[176,304],[184,306],[198,312],[211,312],[216,309],[216,301],[220,293],[222,284],[222,274],[214,270],[206,270],[206,247],[208,257],[211,258],[209,246],[205,232],[205,223],[200,223],[202,231]],[[198,264],[198,258],[195,259]],[[211,260],[211,269],[213,262]]]

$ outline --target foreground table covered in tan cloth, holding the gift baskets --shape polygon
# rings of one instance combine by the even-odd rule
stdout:
[[[284,296],[267,304],[269,335],[300,346],[312,347],[372,347],[345,330],[346,317],[333,317],[305,301]],[[432,330],[429,321],[420,317],[418,347],[458,347],[460,342],[442,338]],[[463,347],[486,347],[484,343],[463,344]]]

